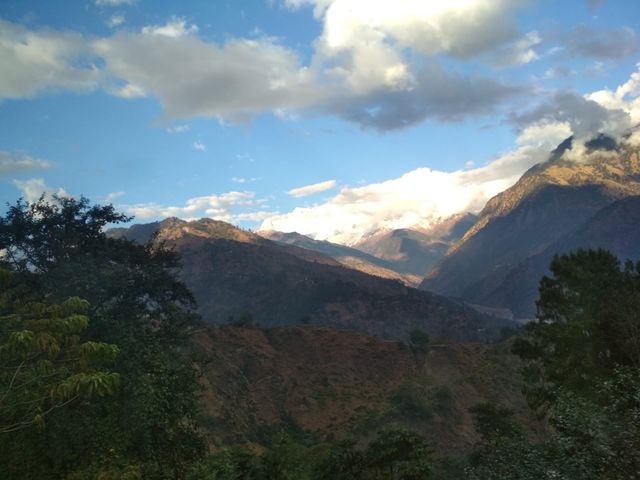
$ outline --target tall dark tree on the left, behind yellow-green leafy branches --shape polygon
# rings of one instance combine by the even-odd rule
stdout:
[[[174,252],[105,235],[107,225],[129,220],[112,206],[58,197],[19,200],[0,218],[0,250],[16,282],[53,302],[86,299],[92,321],[84,341],[120,349],[114,396],[80,403],[70,418],[52,415],[29,440],[29,461],[46,464],[52,477],[133,465],[144,478],[183,478],[204,449],[199,384],[185,354],[198,325],[194,300],[176,277]]]

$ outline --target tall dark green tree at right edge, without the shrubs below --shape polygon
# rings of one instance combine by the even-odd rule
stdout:
[[[578,250],[556,256],[551,272],[537,320],[514,344],[536,406],[553,402],[557,386],[588,395],[617,366],[640,367],[640,264],[621,269],[605,250]]]

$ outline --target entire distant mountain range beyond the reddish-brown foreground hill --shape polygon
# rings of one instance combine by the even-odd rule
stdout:
[[[109,234],[145,242],[157,232],[175,247],[183,278],[214,323],[250,313],[271,326],[310,322],[385,338],[423,328],[438,338],[482,339],[504,325],[487,314],[535,315],[554,254],[601,247],[640,257],[638,148],[603,135],[585,144],[582,157],[572,146],[565,140],[477,217],[378,231],[351,247],[208,219]],[[417,285],[423,291],[408,288]]]

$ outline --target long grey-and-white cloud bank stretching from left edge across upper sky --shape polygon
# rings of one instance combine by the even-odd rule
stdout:
[[[439,56],[533,60],[539,36],[520,34],[514,22],[524,1],[292,1],[313,4],[323,25],[308,63],[274,38],[207,41],[182,17],[99,38],[4,22],[0,61],[11,74],[0,79],[0,96],[102,87],[156,97],[167,119],[321,114],[380,131],[460,120],[490,114],[523,90],[445,69]]]

